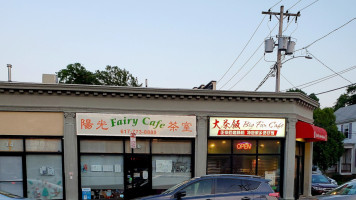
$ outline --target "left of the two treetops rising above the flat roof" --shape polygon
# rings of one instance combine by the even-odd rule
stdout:
[[[60,70],[57,75],[60,83],[89,85],[100,84],[96,78],[96,75],[85,69],[85,67],[80,63],[67,65],[67,68]]]

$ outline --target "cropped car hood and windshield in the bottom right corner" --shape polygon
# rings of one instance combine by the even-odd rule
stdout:
[[[356,199],[356,179],[351,180],[343,185],[329,191],[324,195],[307,198],[308,200],[355,200]]]

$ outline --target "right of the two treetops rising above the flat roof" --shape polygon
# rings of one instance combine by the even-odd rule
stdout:
[[[120,69],[117,66],[107,65],[105,71],[96,70],[96,77],[103,85],[118,85],[118,86],[132,86],[141,87],[137,78],[135,78],[129,71]]]

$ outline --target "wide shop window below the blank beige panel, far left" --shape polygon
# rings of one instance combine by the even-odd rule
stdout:
[[[63,199],[62,139],[0,138],[0,191],[30,199]]]

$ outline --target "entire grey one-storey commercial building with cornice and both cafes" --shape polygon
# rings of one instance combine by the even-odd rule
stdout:
[[[0,101],[0,190],[31,198],[130,199],[239,173],[294,199],[323,139],[298,131],[318,106],[300,93],[1,82]]]

